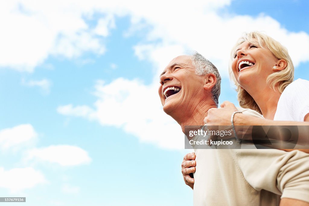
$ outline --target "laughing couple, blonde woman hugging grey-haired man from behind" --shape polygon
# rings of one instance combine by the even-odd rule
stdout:
[[[221,78],[199,53],[176,57],[164,69],[163,110],[183,132],[185,125],[309,125],[309,81],[293,81],[293,63],[279,42],[260,32],[245,34],[232,49],[229,69],[243,108],[230,102],[217,108]],[[309,206],[306,150],[194,151],[182,164],[194,205]]]

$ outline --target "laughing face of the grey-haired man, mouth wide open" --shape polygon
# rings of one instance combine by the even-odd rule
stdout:
[[[195,74],[191,56],[178,56],[164,69],[160,76],[159,96],[163,110],[182,113],[198,99],[205,78]]]

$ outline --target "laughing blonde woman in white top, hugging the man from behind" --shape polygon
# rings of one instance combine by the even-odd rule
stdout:
[[[208,112],[205,124],[309,125],[309,81],[293,82],[292,60],[279,42],[260,32],[245,34],[232,49],[229,71],[239,105],[258,111],[265,119],[234,113],[235,105],[224,102],[222,108]],[[192,188],[194,159],[195,154],[189,153],[182,163],[185,183]]]

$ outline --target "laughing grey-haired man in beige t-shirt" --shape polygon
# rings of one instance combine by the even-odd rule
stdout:
[[[163,110],[204,125],[218,106],[220,75],[199,53],[174,58],[160,75]],[[249,112],[249,111],[246,111]],[[309,155],[278,149],[195,149],[194,205],[309,205]]]

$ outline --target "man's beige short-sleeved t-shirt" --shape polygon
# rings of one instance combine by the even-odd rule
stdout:
[[[252,110],[243,111],[244,114],[252,112],[260,116]],[[280,195],[309,202],[307,153],[278,149],[194,150],[196,206],[273,206],[279,205]]]

